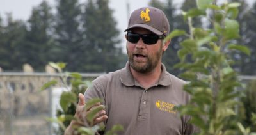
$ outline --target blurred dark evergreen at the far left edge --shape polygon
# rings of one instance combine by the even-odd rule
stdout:
[[[7,15],[7,25],[1,27],[0,65],[4,70],[22,70],[19,47],[24,41],[26,26]]]

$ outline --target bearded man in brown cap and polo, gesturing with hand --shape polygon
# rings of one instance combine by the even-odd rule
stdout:
[[[99,97],[106,109],[97,113],[93,124],[104,122],[106,131],[115,124],[124,127],[118,134],[192,134],[195,127],[188,124],[189,116],[180,116],[175,106],[188,104],[189,95],[182,90],[184,81],[166,71],[161,58],[170,40],[169,22],[163,11],[145,7],[132,12],[127,34],[129,62],[125,68],[102,75],[92,87],[79,94],[76,118],[86,101]],[[92,107],[93,109],[94,107]],[[66,134],[72,132],[72,121]]]

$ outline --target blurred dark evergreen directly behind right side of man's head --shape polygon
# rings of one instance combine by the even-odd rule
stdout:
[[[185,1],[182,4],[182,10],[188,10],[188,8],[195,8],[196,7],[195,1]],[[166,2],[161,2],[159,0],[152,0],[150,1],[150,6],[154,6],[156,8],[160,8],[166,14],[166,17],[170,23],[170,31],[174,29],[186,29],[188,31],[188,25],[186,22],[183,21],[183,17],[179,12],[180,9],[176,8],[177,5],[173,5],[171,0],[166,0]],[[200,18],[193,19],[197,26],[200,26]],[[164,52],[163,55],[163,63],[166,65],[166,70],[171,72],[174,75],[180,74],[181,70],[178,68],[173,68],[176,63],[179,63],[179,58],[177,58],[177,51],[180,49],[179,42],[182,41],[184,37],[174,37],[171,40],[169,49]]]

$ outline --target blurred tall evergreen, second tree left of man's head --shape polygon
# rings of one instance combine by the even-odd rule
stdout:
[[[68,63],[70,71],[81,71],[81,58],[83,46],[79,18],[81,17],[81,5],[78,0],[58,0],[56,15],[56,41],[60,47],[58,60]]]

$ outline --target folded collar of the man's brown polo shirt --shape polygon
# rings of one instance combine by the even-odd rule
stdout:
[[[161,63],[162,72],[157,82],[158,85],[169,86],[172,84],[171,75],[166,71],[165,66]],[[120,72],[120,80],[125,86],[135,86],[135,79],[130,70],[129,61],[126,63],[125,68]]]

